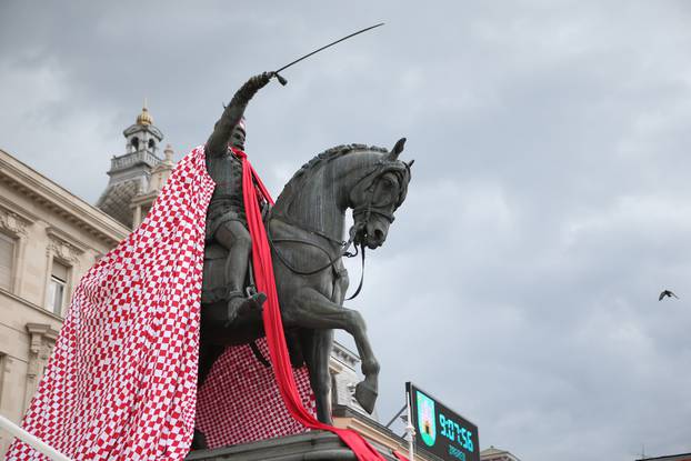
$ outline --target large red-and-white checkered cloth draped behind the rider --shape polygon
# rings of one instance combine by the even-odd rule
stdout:
[[[194,428],[204,218],[202,148],[142,224],[74,290],[23,428],[74,460],[182,460]],[[8,460],[46,460],[16,441]]]

